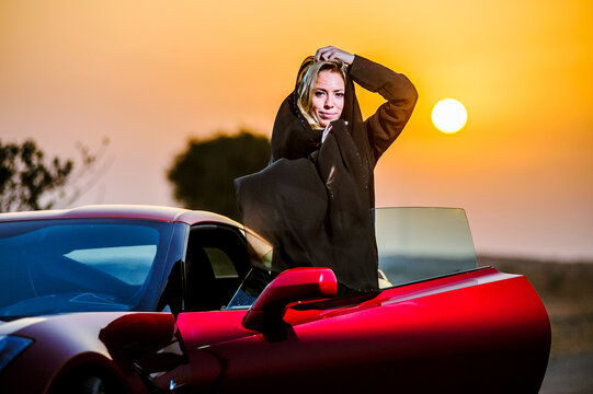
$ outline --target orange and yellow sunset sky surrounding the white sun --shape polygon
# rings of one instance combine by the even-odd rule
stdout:
[[[377,206],[463,207],[479,253],[593,259],[591,1],[0,0],[0,139],[77,158],[109,137],[78,204],[175,205],[166,170],[187,138],[270,136],[326,45],[420,93]],[[358,95],[366,116],[381,103]],[[431,124],[446,97],[468,111],[455,135]]]

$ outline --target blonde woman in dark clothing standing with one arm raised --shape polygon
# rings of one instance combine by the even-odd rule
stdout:
[[[387,100],[366,120],[353,82]],[[417,99],[404,76],[339,48],[305,59],[274,123],[271,165],[237,182],[244,223],[274,243],[278,269],[324,266],[346,289],[377,289],[373,170]]]

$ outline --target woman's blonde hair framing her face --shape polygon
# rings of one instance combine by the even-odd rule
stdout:
[[[297,85],[297,106],[313,130],[323,129],[323,126],[311,114],[312,95],[317,77],[321,71],[339,72],[346,82],[346,65],[342,60],[323,60],[311,62],[299,76]]]

